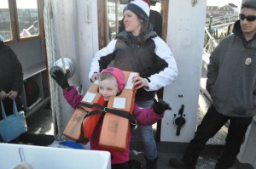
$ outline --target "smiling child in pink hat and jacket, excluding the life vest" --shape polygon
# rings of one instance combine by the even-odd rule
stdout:
[[[55,70],[52,73],[52,77],[55,81],[63,88],[63,95],[67,102],[73,106],[74,109],[77,108],[79,103],[84,98],[80,95],[75,87],[70,87],[67,82],[67,76],[64,76],[61,70]],[[108,102],[108,99],[112,96],[116,96],[122,92],[125,87],[125,76],[124,73],[118,68],[110,67],[108,69],[102,70],[99,75],[99,93],[102,94],[103,99]],[[159,102],[154,101],[151,108],[140,109],[137,104],[134,106],[132,116],[137,120],[140,125],[152,125],[156,121],[160,120],[164,116],[165,110],[171,110],[169,104],[165,101],[159,100]],[[102,129],[102,121],[100,121],[93,135],[90,138],[90,149],[104,150],[99,147],[99,136]],[[110,151],[112,160],[112,168],[122,168],[128,169],[130,143],[131,143],[131,132],[129,133],[128,147],[125,152]]]

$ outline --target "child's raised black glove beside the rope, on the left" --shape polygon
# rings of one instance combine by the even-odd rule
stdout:
[[[51,76],[55,80],[55,82],[57,82],[58,85],[61,86],[62,89],[66,89],[67,91],[71,89],[67,82],[67,74],[64,75],[61,70],[54,70]]]

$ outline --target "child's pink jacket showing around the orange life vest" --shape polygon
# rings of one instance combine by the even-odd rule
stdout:
[[[63,95],[67,100],[68,104],[70,104],[73,107],[73,109],[76,109],[79,103],[81,102],[81,100],[84,98],[84,95],[80,95],[75,87],[72,87],[72,89],[68,92],[67,90],[63,90]],[[152,109],[152,107],[148,109],[141,109],[137,106],[137,104],[135,104],[132,116],[137,120],[137,124],[148,126],[148,125],[154,124],[155,122],[163,118],[164,113],[159,115],[157,113],[154,113],[154,110]],[[99,147],[99,136],[100,136],[101,130],[102,130],[102,123],[99,122],[96,126],[95,131],[93,132],[93,135],[90,138],[90,149],[105,150]],[[110,154],[112,156],[111,164],[119,164],[119,163],[124,163],[126,161],[129,161],[131,132],[129,133],[128,137],[129,137],[128,138],[129,144],[125,152],[110,151]]]

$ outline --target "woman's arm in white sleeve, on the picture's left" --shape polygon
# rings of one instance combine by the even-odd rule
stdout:
[[[113,60],[113,51],[115,49],[115,43],[117,40],[113,39],[108,43],[108,46],[99,50],[93,57],[90,63],[89,80],[94,82],[93,76],[103,69],[106,69],[110,62]]]

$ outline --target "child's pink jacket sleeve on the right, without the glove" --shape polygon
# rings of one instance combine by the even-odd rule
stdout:
[[[154,112],[152,106],[150,108],[139,108],[137,104],[134,105],[132,116],[137,120],[137,123],[143,126],[152,125],[163,118],[164,113],[161,115]]]

